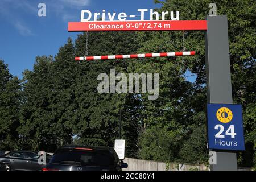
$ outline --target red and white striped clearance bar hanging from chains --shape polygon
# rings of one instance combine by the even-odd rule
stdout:
[[[109,55],[109,56],[85,56],[75,57],[76,61],[92,61],[92,60],[108,60],[108,59],[129,59],[129,58],[141,58],[141,57],[169,57],[169,56],[192,56],[195,55],[195,51],[187,52],[162,52],[162,53],[139,53],[136,55]]]

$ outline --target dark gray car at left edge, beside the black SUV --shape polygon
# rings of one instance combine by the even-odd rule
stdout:
[[[39,171],[45,165],[38,163],[38,154],[32,151],[14,151],[0,156],[0,164],[6,171]],[[46,162],[49,162],[51,155],[47,154]]]

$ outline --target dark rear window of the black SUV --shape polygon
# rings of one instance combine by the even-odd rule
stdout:
[[[113,167],[114,156],[106,151],[59,151],[52,156],[51,163],[75,166]]]

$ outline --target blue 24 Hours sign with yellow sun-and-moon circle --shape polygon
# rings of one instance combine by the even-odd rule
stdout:
[[[245,150],[242,106],[207,104],[209,149]]]

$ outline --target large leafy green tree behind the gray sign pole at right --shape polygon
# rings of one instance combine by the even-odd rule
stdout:
[[[211,1],[166,0],[156,1],[156,3],[162,4],[160,9],[156,9],[159,12],[179,10],[180,20],[203,20],[208,14],[208,5]],[[254,59],[256,4],[252,0],[215,1],[214,3],[217,5],[217,15],[226,14],[228,16],[233,100],[234,103],[242,104],[243,113],[246,113],[243,118],[245,120],[246,151],[240,154],[241,157],[238,158],[238,162],[242,166],[252,166],[253,161],[255,161],[255,118],[253,113],[256,98]],[[149,127],[171,126],[168,131],[181,131],[178,133],[183,140],[179,142],[183,144],[179,148],[180,152],[176,159],[183,162],[196,162],[207,159],[206,150],[203,150],[206,141],[206,135],[203,132],[205,125],[205,104],[203,103],[207,102],[205,96],[204,32],[140,32],[139,39],[142,48],[139,51],[181,51],[184,48],[183,34],[185,36],[185,48],[195,50],[195,56],[184,57],[183,59],[175,57],[154,59],[153,63],[150,61],[143,63],[143,65],[138,63],[133,69],[148,71],[148,68],[154,68],[156,72],[159,72],[159,75],[162,75],[159,76],[159,79],[163,80],[159,86],[159,99],[152,103],[143,100],[144,121],[148,123]],[[167,68],[172,69],[172,71]],[[183,74],[186,71],[197,76],[195,83],[188,84],[185,82]],[[172,80],[174,81],[172,82]],[[166,92],[164,93],[164,91]],[[162,100],[161,95],[163,96]],[[201,142],[198,142],[195,137],[200,137]],[[197,153],[196,156],[191,155],[189,157],[188,154],[196,150],[193,146],[197,146],[203,151]],[[155,155],[158,156],[157,153]]]

